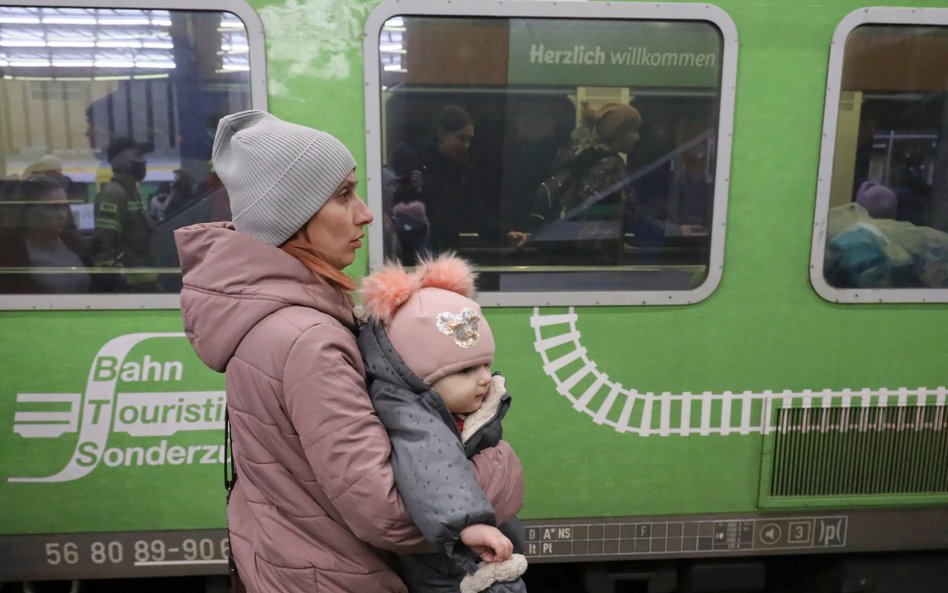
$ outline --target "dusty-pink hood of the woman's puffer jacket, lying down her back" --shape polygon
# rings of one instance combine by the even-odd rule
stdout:
[[[239,233],[229,222],[174,232],[181,260],[181,316],[198,357],[223,372],[257,323],[280,309],[317,309],[354,328],[348,295],[318,280],[278,247]]]

